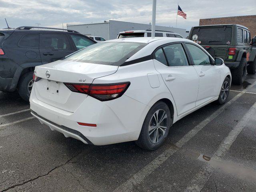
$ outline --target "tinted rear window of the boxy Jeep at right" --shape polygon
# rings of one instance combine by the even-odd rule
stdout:
[[[192,31],[191,40],[199,44],[231,44],[231,27],[196,28]]]

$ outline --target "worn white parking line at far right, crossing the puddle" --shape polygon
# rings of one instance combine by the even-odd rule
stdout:
[[[243,116],[242,120],[230,131],[225,140],[220,144],[218,150],[213,154],[212,159],[220,160],[229,150],[230,146],[234,143],[237,136],[240,134],[244,126],[248,123],[251,116],[256,111],[256,103],[250,108],[250,110]],[[201,170],[194,176],[188,187],[184,192],[200,192],[212,173],[214,172],[214,167],[210,164],[205,164]]]

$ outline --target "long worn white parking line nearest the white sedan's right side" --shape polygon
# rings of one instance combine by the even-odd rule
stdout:
[[[186,142],[188,142],[191,138],[193,138],[202,128],[204,128],[209,122],[214,120],[219,114],[221,114],[228,106],[230,106],[233,102],[238,100],[248,88],[251,88],[252,86],[256,85],[256,82],[254,84],[251,84],[248,86],[244,91],[237,94],[232,100],[224,104],[221,108],[219,108],[216,112],[214,112],[212,115],[210,115],[208,118],[200,122],[197,126],[195,126],[190,132],[188,132],[184,137],[182,137],[175,145],[181,148]],[[156,168],[158,168],[161,164],[163,164],[172,154],[174,154],[178,149],[177,148],[168,148],[165,150],[162,154],[157,156],[154,160],[152,160],[149,164],[147,164],[144,168],[142,168],[140,171],[138,171],[134,176],[132,176],[130,179],[128,179],[126,182],[124,182],[122,185],[118,186],[114,190],[114,192],[128,192],[132,191],[133,186],[139,184],[146,176],[148,176],[150,173],[152,173]]]

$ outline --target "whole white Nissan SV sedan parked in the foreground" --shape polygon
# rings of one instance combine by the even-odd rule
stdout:
[[[181,38],[126,38],[91,45],[36,66],[33,116],[85,144],[136,141],[154,150],[173,123],[228,98],[231,74]]]

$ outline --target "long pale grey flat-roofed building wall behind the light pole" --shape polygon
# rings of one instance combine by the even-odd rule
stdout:
[[[109,20],[109,22],[106,22],[106,23],[96,23],[96,24],[82,24],[82,25],[67,24],[67,28],[76,30],[87,36],[101,36],[106,40],[109,40],[109,39],[117,38],[119,32],[121,31],[146,30],[146,29],[151,30],[151,25]],[[184,38],[188,36],[186,34],[186,29],[181,29],[181,28],[156,26],[156,30],[175,32],[175,33],[181,34]]]

